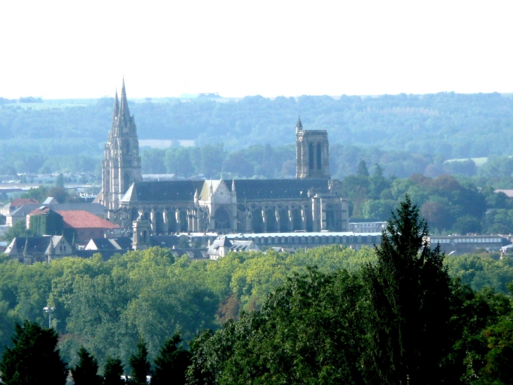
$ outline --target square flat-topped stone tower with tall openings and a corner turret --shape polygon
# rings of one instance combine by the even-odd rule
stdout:
[[[330,179],[330,145],[326,130],[303,130],[296,124],[296,179]]]

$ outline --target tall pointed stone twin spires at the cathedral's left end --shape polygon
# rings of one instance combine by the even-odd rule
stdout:
[[[110,210],[116,210],[130,185],[142,180],[137,127],[134,115],[130,115],[123,80],[121,101],[118,101],[116,92],[112,125],[105,144],[100,203]]]

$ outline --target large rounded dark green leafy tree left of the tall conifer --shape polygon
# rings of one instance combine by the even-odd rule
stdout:
[[[361,384],[364,292],[344,270],[294,275],[259,310],[197,336],[188,384]]]

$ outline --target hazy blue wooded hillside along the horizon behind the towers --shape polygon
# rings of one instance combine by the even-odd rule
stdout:
[[[16,153],[100,157],[110,129],[112,99],[79,103],[72,106],[67,101],[66,107],[55,104],[54,108],[40,108],[45,101],[32,103],[34,108],[27,107],[29,103],[1,105],[1,157],[5,160]],[[200,146],[223,143],[225,151],[253,144],[292,144],[301,115],[305,129],[327,130],[330,144],[344,147],[444,158],[512,153],[508,139],[513,132],[513,99],[497,93],[154,99],[132,102],[130,109],[140,139],[194,140]]]

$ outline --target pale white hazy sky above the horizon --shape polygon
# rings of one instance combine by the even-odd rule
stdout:
[[[0,96],[513,92],[513,1],[0,1]]]

